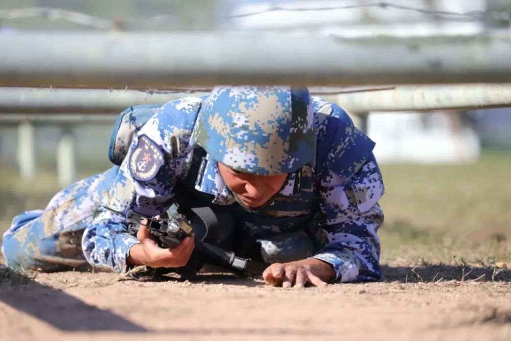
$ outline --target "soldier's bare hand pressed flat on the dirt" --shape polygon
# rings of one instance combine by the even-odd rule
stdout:
[[[332,265],[315,258],[290,263],[273,263],[263,272],[269,285],[290,288],[314,285],[324,287],[335,278]]]

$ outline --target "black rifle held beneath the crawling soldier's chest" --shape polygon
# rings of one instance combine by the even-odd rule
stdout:
[[[160,246],[164,248],[176,247],[185,237],[195,237],[192,225],[181,214],[171,218],[154,219],[129,211],[126,214],[126,220],[130,234],[136,236],[140,225],[146,225],[149,232],[158,238]],[[266,267],[264,263],[252,261],[250,258],[237,257],[234,252],[226,251],[204,241],[196,241],[195,248],[205,259],[242,271],[248,276],[260,277]]]

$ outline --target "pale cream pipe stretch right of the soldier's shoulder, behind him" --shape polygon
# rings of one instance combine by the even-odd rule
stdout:
[[[340,94],[336,102],[354,113],[509,107],[511,83],[396,86],[373,92]]]

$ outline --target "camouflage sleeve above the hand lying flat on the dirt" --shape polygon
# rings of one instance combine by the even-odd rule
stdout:
[[[323,223],[315,234],[323,248],[313,257],[332,264],[338,282],[379,280],[384,186],[377,164],[369,161],[347,184],[330,172],[320,193]]]

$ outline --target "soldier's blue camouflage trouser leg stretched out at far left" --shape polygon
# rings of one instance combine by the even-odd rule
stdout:
[[[42,271],[86,267],[81,247],[83,231],[118,169],[113,167],[69,186],[57,193],[44,211],[16,216],[2,239],[7,265]]]

